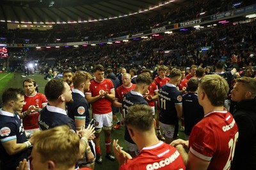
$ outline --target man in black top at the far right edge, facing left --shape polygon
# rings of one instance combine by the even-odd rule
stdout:
[[[231,169],[254,169],[256,167],[256,79],[237,78],[231,94],[232,101],[237,102],[233,117],[239,129]]]

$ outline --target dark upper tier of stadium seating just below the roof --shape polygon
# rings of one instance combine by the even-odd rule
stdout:
[[[239,2],[239,5],[237,3]],[[39,31],[32,29],[2,28],[2,43],[8,44],[45,44],[78,41],[108,41],[120,36],[133,35],[159,27],[175,25],[188,20],[212,16],[223,11],[243,8],[252,1],[195,1],[161,13],[148,13],[140,18],[124,18],[123,22],[90,22],[86,24],[54,24],[52,29]]]

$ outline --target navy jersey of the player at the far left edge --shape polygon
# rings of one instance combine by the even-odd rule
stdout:
[[[27,141],[24,127],[20,120],[18,113],[10,113],[8,111],[0,110],[0,169],[13,169],[19,166],[19,162],[23,159],[28,159],[27,150],[8,155],[2,143],[16,139],[17,143],[24,143]]]

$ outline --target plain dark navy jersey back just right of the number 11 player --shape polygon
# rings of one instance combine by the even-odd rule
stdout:
[[[190,135],[194,125],[204,118],[204,109],[198,103],[198,96],[195,93],[188,93],[182,96],[182,108],[184,115],[184,132]]]

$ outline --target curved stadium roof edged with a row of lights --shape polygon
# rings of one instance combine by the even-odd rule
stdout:
[[[196,0],[193,0],[196,1]],[[189,0],[1,0],[0,22],[26,24],[83,23],[147,17]]]

